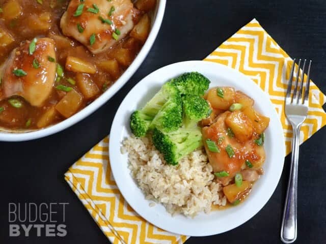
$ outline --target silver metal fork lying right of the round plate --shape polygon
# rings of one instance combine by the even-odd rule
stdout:
[[[291,168],[290,177],[287,186],[287,193],[285,199],[285,206],[283,212],[283,220],[281,227],[281,240],[284,243],[292,243],[296,239],[296,195],[297,195],[297,169],[298,169],[298,157],[299,157],[299,145],[300,145],[300,129],[302,123],[307,118],[308,114],[308,101],[309,101],[309,85],[310,85],[310,67],[311,60],[308,66],[306,89],[303,94],[304,87],[304,74],[306,68],[306,59],[304,60],[301,79],[298,81],[300,75],[301,59],[298,62],[298,69],[296,73],[293,97],[291,96],[292,79],[295,66],[295,58],[291,68],[289,83],[286,91],[285,99],[285,115],[290,121],[293,130],[292,138],[292,156],[291,156]]]

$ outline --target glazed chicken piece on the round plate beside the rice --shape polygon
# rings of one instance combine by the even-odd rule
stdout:
[[[228,125],[226,121],[233,117],[235,112],[226,111],[216,118],[216,122],[209,127],[202,129],[204,142],[207,139],[212,140],[220,149],[220,153],[214,153],[209,150],[207,143],[204,143],[206,153],[208,155],[209,163],[213,167],[214,172],[226,171],[229,176],[218,177],[218,180],[225,186],[240,172],[241,167],[249,160],[254,168],[259,168],[265,160],[265,151],[262,146],[258,146],[254,142],[253,130],[247,128],[246,131],[251,132],[247,135],[248,140],[240,142],[235,136],[231,137],[228,133]],[[238,119],[238,117],[236,117]],[[231,146],[234,151],[234,156],[229,157],[227,153],[227,146]]]

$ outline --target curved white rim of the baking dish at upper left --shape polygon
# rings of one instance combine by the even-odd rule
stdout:
[[[137,71],[137,69],[143,63],[158,34],[164,16],[165,7],[166,0],[159,0],[156,4],[156,10],[153,15],[155,17],[153,18],[150,34],[141,51],[138,53],[137,57],[135,57],[128,69],[126,69],[126,71],[121,75],[121,77],[94,102],[92,102],[90,105],[80,110],[73,116],[61,121],[56,125],[44,129],[18,133],[0,131],[0,141],[26,141],[55,134],[76,124],[80,120],[93,113],[99,107],[101,107],[105,102],[107,102],[118,92],[118,90],[130,79],[130,77],[135,73],[135,71]]]

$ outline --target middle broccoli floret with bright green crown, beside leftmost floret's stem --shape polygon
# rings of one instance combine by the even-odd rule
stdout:
[[[150,129],[158,128],[164,132],[177,130],[182,124],[181,96],[169,99],[154,117]]]

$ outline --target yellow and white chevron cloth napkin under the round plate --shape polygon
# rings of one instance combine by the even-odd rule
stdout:
[[[286,154],[292,130],[284,114],[284,96],[292,59],[253,19],[204,60],[224,64],[254,80],[270,97],[282,121]],[[239,81],[241,82],[241,81]],[[308,117],[301,141],[326,124],[326,97],[311,82]],[[141,218],[119,192],[108,159],[108,137],[74,163],[65,180],[112,243],[183,243],[189,236],[161,230]]]

